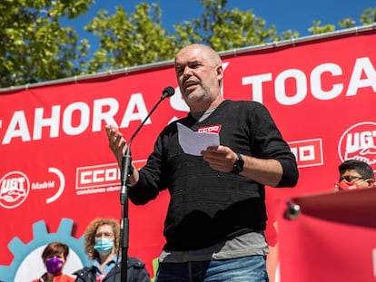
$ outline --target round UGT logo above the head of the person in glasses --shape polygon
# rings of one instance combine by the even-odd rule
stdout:
[[[376,170],[376,122],[360,122],[344,131],[338,153],[341,161],[361,160]]]

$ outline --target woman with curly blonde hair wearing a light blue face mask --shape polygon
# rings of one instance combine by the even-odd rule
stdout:
[[[86,229],[84,248],[92,267],[74,272],[76,282],[120,282],[121,256],[119,248],[119,224],[114,219],[94,219]],[[128,258],[127,282],[150,282],[144,263],[137,258]]]

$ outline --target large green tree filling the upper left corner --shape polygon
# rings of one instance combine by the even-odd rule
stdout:
[[[36,83],[79,73],[87,44],[59,21],[84,15],[93,0],[2,0],[0,87]]]

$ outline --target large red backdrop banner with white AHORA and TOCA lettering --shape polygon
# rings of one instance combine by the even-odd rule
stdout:
[[[267,189],[272,252],[283,244],[274,229],[281,212],[276,202],[331,190],[345,159],[365,160],[376,170],[375,50],[376,31],[365,29],[222,54],[223,97],[262,102],[299,163],[296,188]],[[117,124],[129,138],[167,85],[175,95],[160,104],[132,144],[133,160],[141,167],[159,131],[188,111],[172,63],[0,92],[0,280],[39,277],[41,250],[53,239],[72,248],[65,272],[87,263],[88,223],[122,217],[119,170],[104,124]],[[129,255],[143,259],[152,277],[153,259],[164,242],[168,197],[162,193],[145,206],[129,207]],[[273,281],[278,259],[269,261]]]

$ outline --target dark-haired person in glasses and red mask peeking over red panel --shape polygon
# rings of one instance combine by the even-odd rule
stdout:
[[[338,167],[340,179],[336,182],[337,190],[355,190],[375,187],[375,176],[371,166],[361,160],[345,160]]]

